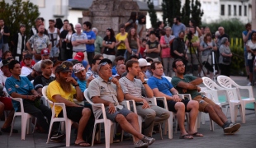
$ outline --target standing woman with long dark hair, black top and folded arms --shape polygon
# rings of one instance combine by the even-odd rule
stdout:
[[[116,58],[115,44],[116,44],[115,32],[111,28],[107,28],[106,36],[104,37],[102,42],[102,46],[104,47],[104,51],[102,53],[103,53],[103,57],[110,59],[111,62],[114,62]]]

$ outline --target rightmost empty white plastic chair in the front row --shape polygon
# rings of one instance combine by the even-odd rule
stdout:
[[[245,123],[245,105],[249,103],[254,103],[254,110],[256,114],[256,101],[254,98],[254,92],[252,86],[239,86],[235,81],[233,81],[230,77],[228,76],[218,76],[217,81],[220,84],[221,87],[223,88],[236,88],[237,95],[240,100],[241,108],[242,108],[242,123]],[[242,99],[239,89],[244,89],[249,91],[249,98]],[[233,121],[232,121],[233,122]]]

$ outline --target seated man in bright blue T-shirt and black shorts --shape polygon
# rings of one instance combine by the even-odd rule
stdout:
[[[181,131],[180,138],[192,139],[193,136],[203,136],[195,131],[195,124],[197,121],[197,113],[199,104],[195,100],[180,99],[178,91],[173,85],[163,77],[164,69],[162,62],[153,62],[151,64],[153,76],[149,78],[149,87],[153,90],[154,96],[165,97],[167,99],[168,110],[176,113],[178,118],[178,125]],[[162,101],[158,101],[159,106],[164,107]],[[185,112],[189,112],[189,129],[188,133],[184,127]]]

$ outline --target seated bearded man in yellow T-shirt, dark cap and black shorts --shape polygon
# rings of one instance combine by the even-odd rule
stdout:
[[[91,117],[91,109],[84,108],[81,105],[75,104],[73,98],[78,101],[83,101],[83,93],[80,90],[78,82],[71,76],[69,67],[64,63],[56,67],[55,81],[52,81],[47,89],[47,97],[54,103],[64,103],[66,106],[67,117],[73,122],[78,123],[78,135],[75,140],[75,146],[90,146],[83,139],[83,134],[91,138],[93,118]],[[56,117],[62,116],[63,110],[61,107],[55,107]]]

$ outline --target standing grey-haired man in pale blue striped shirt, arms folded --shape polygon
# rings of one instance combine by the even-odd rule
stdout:
[[[88,61],[85,46],[85,44],[88,43],[88,37],[85,33],[82,32],[81,24],[76,24],[75,29],[77,30],[77,32],[74,33],[71,38],[71,42],[73,45],[73,57],[76,55],[76,53],[82,52],[84,54],[84,60]]]

